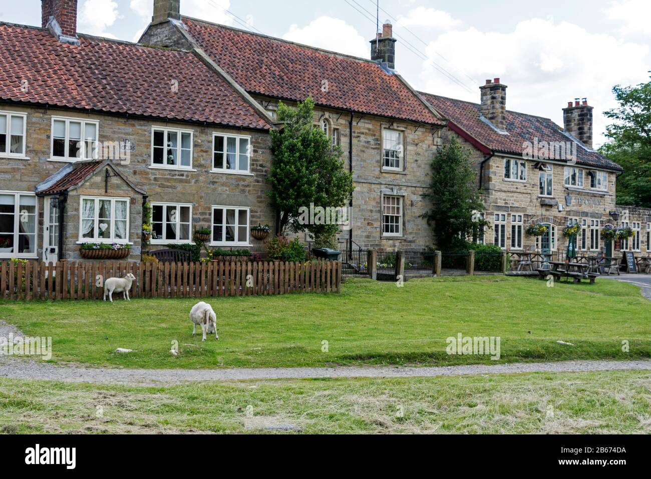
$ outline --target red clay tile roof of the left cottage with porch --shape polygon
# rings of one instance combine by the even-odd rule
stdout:
[[[79,42],[66,45],[46,30],[0,23],[0,99],[270,128],[193,53],[81,35]]]

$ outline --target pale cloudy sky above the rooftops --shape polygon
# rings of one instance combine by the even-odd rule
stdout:
[[[79,0],[77,30],[137,41],[154,0]],[[358,57],[370,57],[376,0],[181,0],[181,13]],[[393,23],[396,70],[417,90],[479,102],[501,78],[506,107],[562,125],[574,98],[594,107],[594,143],[616,106],[614,85],[651,70],[651,0],[380,0]],[[40,0],[0,0],[0,20],[40,25]]]

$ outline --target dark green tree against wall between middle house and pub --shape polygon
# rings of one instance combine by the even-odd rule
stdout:
[[[432,187],[423,195],[432,200],[432,210],[424,213],[429,225],[434,226],[440,249],[453,247],[461,236],[467,236],[484,228],[486,221],[480,218],[486,208],[480,200],[476,187],[477,172],[468,152],[456,137],[438,151],[432,161]]]

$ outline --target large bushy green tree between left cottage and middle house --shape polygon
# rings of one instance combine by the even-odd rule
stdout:
[[[305,208],[342,208],[353,193],[353,178],[346,171],[343,152],[314,126],[314,100],[307,98],[296,109],[278,106],[282,130],[271,130],[271,173],[268,193],[280,213],[280,231],[308,230],[319,238],[332,238],[338,225],[305,223]]]

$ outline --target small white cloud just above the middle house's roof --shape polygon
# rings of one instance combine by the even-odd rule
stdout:
[[[370,44],[367,39],[339,18],[319,17],[303,28],[294,24],[283,35],[283,39],[355,57],[370,57]]]

